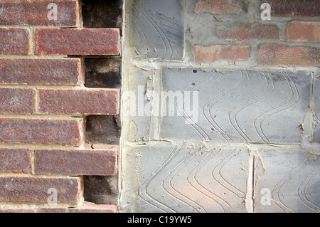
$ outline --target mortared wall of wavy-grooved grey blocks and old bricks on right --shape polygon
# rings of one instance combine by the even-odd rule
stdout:
[[[180,1],[182,60],[142,56],[126,2],[119,211],[319,212],[320,2]]]

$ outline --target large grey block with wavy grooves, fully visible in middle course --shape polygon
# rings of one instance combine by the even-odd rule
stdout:
[[[161,80],[166,91],[198,92],[198,116],[187,108],[194,95],[176,99],[175,111],[180,115],[162,117],[161,138],[302,142],[310,73],[235,70],[223,74],[165,68]],[[169,98],[162,105],[168,106],[168,102]]]

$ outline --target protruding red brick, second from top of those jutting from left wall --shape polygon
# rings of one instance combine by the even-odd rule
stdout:
[[[118,89],[40,89],[40,112],[66,115],[117,115]]]

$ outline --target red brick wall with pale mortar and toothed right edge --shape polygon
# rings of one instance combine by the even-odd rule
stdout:
[[[120,59],[122,21],[87,26],[82,7],[0,1],[0,212],[117,211],[83,198],[85,176],[117,176],[119,143],[85,135],[88,116],[119,114],[120,95],[87,86],[85,60]]]

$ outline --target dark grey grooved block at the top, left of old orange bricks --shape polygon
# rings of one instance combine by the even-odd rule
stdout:
[[[148,58],[181,60],[183,11],[179,0],[133,1],[131,44]]]

